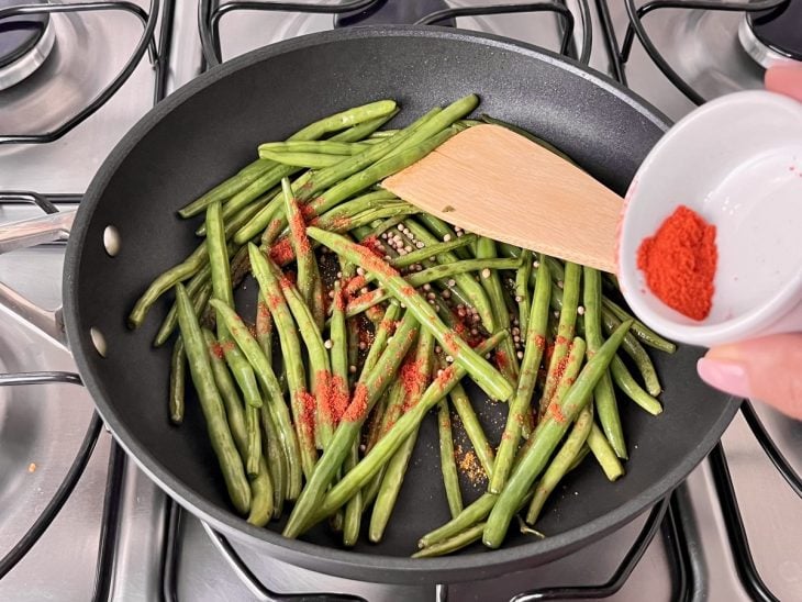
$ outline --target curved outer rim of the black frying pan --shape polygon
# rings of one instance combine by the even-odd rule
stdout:
[[[270,548],[269,554],[280,560],[314,571],[350,579],[391,583],[434,583],[483,579],[520,570],[543,561],[534,561],[536,558],[554,559],[569,554],[588,544],[591,539],[599,538],[641,515],[681,483],[710,453],[735,415],[739,400],[735,398],[727,399],[722,406],[719,420],[713,424],[705,438],[700,441],[699,445],[686,455],[671,472],[664,475],[659,481],[644,490],[639,495],[631,498],[626,503],[608,514],[532,544],[444,558],[411,559],[409,557],[355,553],[298,539],[287,539],[280,533],[249,525],[244,519],[236,516],[230,510],[219,506],[196,493],[194,490],[167,470],[148,449],[136,441],[136,437],[129,433],[111,404],[105,402],[103,379],[96,370],[91,369],[88,361],[88,354],[92,353],[93,349],[89,333],[79,328],[78,266],[80,266],[83,239],[92,214],[119,166],[156,124],[180,104],[191,99],[197,92],[227,77],[230,74],[256,63],[301,48],[345,40],[379,36],[454,38],[514,52],[548,63],[571,73],[576,77],[588,79],[593,85],[631,105],[642,116],[661,130],[666,131],[669,126],[669,120],[665,115],[603,74],[543,48],[492,34],[415,25],[360,26],[309,34],[252,51],[198,76],[148,111],[118,143],[99,168],[85,194],[83,201],[79,205],[75,226],[67,245],[63,286],[66,330],[68,339],[74,343],[70,350],[81,378],[94,399],[98,412],[111,428],[115,439],[134,459],[136,465],[167,494],[176,499],[180,505],[187,508],[193,515],[209,522],[215,529],[226,535],[233,535],[240,542],[267,544]]]

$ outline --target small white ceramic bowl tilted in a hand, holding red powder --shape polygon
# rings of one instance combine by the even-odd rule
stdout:
[[[662,303],[636,265],[641,242],[680,204],[716,226],[715,292],[702,321]],[[626,193],[617,261],[630,306],[675,341],[712,346],[802,331],[802,103],[738,92],[671,127]]]

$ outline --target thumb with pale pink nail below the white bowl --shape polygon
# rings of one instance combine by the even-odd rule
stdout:
[[[711,387],[802,419],[802,334],[713,347],[699,360],[697,370]]]

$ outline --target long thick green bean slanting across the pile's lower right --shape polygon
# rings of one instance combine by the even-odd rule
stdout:
[[[501,545],[512,515],[516,512],[521,501],[532,487],[532,482],[544,469],[555,447],[559,444],[566,430],[581,409],[588,403],[595,388],[608,368],[608,365],[615,356],[631,322],[625,322],[613,335],[602,345],[601,349],[588,361],[587,366],[579,372],[573,384],[568,384],[569,374],[584,356],[584,342],[577,337],[571,345],[568,363],[560,379],[567,391],[562,392],[558,387],[555,398],[549,404],[549,411],[541,419],[535,433],[531,437],[531,447],[522,458],[521,462],[513,469],[510,480],[499,495],[493,510],[488,517],[482,540],[484,545],[497,548]],[[558,397],[562,394],[564,397]],[[561,420],[558,420],[561,419]]]

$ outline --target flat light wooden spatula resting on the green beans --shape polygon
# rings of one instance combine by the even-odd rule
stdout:
[[[621,197],[505,127],[469,127],[382,187],[470,232],[615,272]]]

